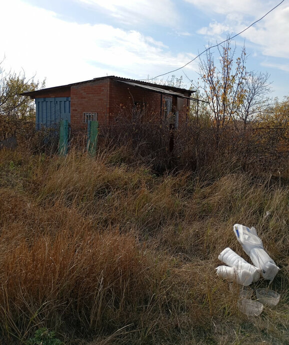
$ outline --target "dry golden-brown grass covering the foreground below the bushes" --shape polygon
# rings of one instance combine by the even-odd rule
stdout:
[[[42,326],[67,344],[289,341],[284,181],[243,172],[239,157],[191,172],[181,162],[201,156],[185,150],[156,174],[174,162],[140,157],[147,141],[102,141],[96,158],[0,151],[0,341],[23,343]],[[234,223],[254,226],[281,268],[281,300],[259,317],[241,314],[238,287],[214,272],[226,246],[246,258]]]

